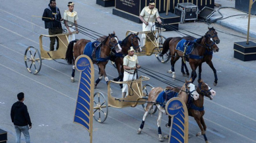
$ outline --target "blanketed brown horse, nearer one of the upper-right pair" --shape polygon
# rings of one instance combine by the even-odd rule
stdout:
[[[176,78],[174,65],[179,57],[184,57],[184,53],[176,49],[177,44],[183,38],[176,37],[176,38],[168,38],[163,45],[163,51],[161,55],[164,55],[170,49],[170,54],[172,56],[171,65],[172,69],[168,72],[172,73],[172,78]],[[193,51],[189,54],[189,65],[191,66],[191,78],[192,82],[194,82],[195,78],[197,78],[197,72],[195,71],[197,67],[203,62],[203,55],[205,54],[205,50],[209,49],[214,43],[220,43],[218,39],[218,33],[214,30],[214,28],[208,28],[208,32],[205,36],[197,39],[194,42]]]

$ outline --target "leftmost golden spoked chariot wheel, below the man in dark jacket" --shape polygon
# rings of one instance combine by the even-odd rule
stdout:
[[[28,72],[37,74],[42,67],[42,57],[40,51],[35,47],[29,46],[24,53],[24,61]]]

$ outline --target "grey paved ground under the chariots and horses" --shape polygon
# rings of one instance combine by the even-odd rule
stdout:
[[[61,13],[67,8],[67,0],[57,1]],[[78,82],[71,83],[71,66],[61,65],[54,61],[43,61],[42,70],[38,75],[26,71],[24,66],[24,51],[28,45],[39,47],[40,34],[48,34],[40,18],[48,0],[44,1],[7,1],[0,5],[0,129],[9,132],[9,142],[15,142],[15,129],[10,119],[11,105],[16,101],[16,94],[24,92],[25,103],[32,119],[30,130],[32,142],[88,142],[88,132],[73,123],[75,100],[77,99]],[[125,38],[127,30],[141,31],[141,24],[112,15],[112,8],[103,8],[95,1],[75,1],[75,9],[79,12],[79,24],[102,34],[115,30],[120,39]],[[218,85],[212,86],[214,76],[208,65],[203,65],[202,77],[217,93],[214,100],[205,99],[205,121],[207,137],[210,142],[256,142],[256,98],[255,61],[243,62],[234,59],[234,42],[245,41],[229,34],[241,35],[234,30],[212,24],[218,30],[220,51],[214,53],[212,59],[218,71]],[[180,24],[182,32],[189,30],[199,35],[207,32],[207,24]],[[177,32],[164,32],[166,37],[180,36]],[[193,36],[193,35],[192,35]],[[77,38],[86,38],[79,34]],[[44,38],[45,48],[49,40]],[[59,60],[63,61],[63,60]],[[63,61],[64,62],[64,61]],[[159,63],[154,55],[139,57],[143,67],[150,67],[154,71],[166,73],[170,63]],[[176,64],[177,78],[185,80],[179,72],[180,62]],[[117,76],[116,70],[108,64],[106,71],[110,79]],[[191,70],[190,70],[191,71]],[[96,71],[97,72],[97,71]],[[142,75],[141,73],[139,73]],[[96,75],[97,77],[97,75]],[[76,79],[79,78],[77,73]],[[171,79],[170,79],[171,80]],[[180,82],[174,81],[177,84]],[[146,83],[153,86],[166,85],[153,78]],[[117,95],[121,96],[118,86],[113,86]],[[106,83],[100,82],[98,89],[106,96]],[[94,142],[158,142],[156,115],[148,117],[143,133],[138,135],[137,129],[143,118],[141,106],[124,109],[109,109],[109,116],[105,123],[94,121]],[[162,132],[166,129],[167,117],[162,120]],[[192,138],[189,142],[204,142],[203,136],[195,137],[199,131],[195,120],[189,118],[189,132]],[[24,142],[24,138],[22,137]],[[165,140],[167,142],[167,140]]]

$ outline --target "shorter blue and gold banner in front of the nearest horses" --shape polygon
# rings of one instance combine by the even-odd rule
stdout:
[[[188,142],[187,106],[181,98],[172,98],[166,104],[166,113],[172,117],[169,142]]]

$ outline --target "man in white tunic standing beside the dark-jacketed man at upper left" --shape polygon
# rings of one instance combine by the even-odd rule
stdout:
[[[73,2],[69,2],[68,3],[68,10],[65,10],[64,12],[64,23],[65,23],[65,29],[67,30],[67,32],[70,34],[69,35],[69,42],[75,40],[75,34],[74,32],[77,32],[77,34],[79,33],[78,29],[77,29],[77,20],[79,19],[79,17],[77,16],[77,12],[74,11],[74,3]]]

